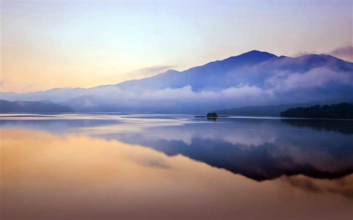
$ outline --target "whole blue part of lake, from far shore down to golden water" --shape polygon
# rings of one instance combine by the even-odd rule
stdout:
[[[80,134],[184,155],[248,178],[336,179],[353,173],[351,121],[184,116],[75,115],[2,120],[3,127]],[[55,119],[55,120],[52,120]],[[57,120],[60,119],[60,120]],[[337,132],[335,132],[337,131]]]

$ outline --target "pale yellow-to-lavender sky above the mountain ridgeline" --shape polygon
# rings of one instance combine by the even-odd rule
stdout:
[[[352,61],[352,1],[1,1],[1,92],[91,88],[260,50]]]

